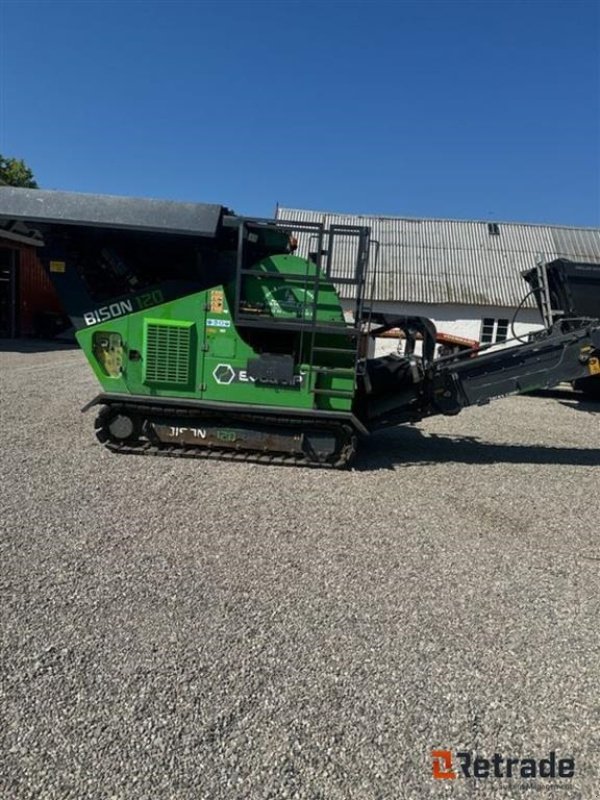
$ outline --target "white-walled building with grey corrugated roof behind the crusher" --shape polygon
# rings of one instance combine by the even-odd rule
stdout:
[[[501,344],[511,337],[515,314],[518,336],[542,327],[534,298],[525,298],[524,270],[556,258],[600,263],[600,228],[409,219],[284,207],[278,207],[276,213],[280,220],[322,222],[326,227],[369,226],[378,243],[371,257],[374,310],[428,317],[443,333],[486,344]],[[310,248],[310,242],[301,236],[300,252],[306,254]],[[348,263],[351,256],[348,251]],[[334,274],[340,274],[340,265]],[[340,284],[338,290],[350,310],[352,297],[347,287]],[[397,345],[397,340],[378,342],[377,352]]]

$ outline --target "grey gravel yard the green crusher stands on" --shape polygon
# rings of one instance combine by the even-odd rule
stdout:
[[[501,400],[350,472],[115,456],[79,351],[21,349],[2,800],[599,796],[597,407]],[[576,774],[434,781],[435,747]]]

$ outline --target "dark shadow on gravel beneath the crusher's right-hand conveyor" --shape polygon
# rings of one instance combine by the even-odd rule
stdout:
[[[495,444],[473,436],[425,434],[418,428],[402,427],[381,431],[363,441],[353,468],[366,472],[416,464],[569,464],[597,467],[600,466],[600,448]]]

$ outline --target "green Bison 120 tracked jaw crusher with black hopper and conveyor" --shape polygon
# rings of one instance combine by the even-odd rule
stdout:
[[[116,452],[343,467],[377,428],[600,372],[600,313],[436,359],[430,320],[365,306],[365,227],[0,187],[0,237],[38,248],[102,387],[86,410]],[[598,301],[600,267],[585,266]],[[404,354],[369,358],[390,328]]]

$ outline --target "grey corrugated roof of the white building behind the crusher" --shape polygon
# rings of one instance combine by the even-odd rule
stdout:
[[[414,303],[465,303],[516,307],[527,293],[523,270],[536,262],[565,257],[600,263],[600,228],[566,228],[554,225],[493,223],[488,221],[410,219],[332,214],[279,208],[281,220],[367,225],[379,242],[379,259],[373,299]],[[299,235],[299,250],[309,250]],[[338,242],[334,274],[353,269],[350,240]],[[352,289],[341,285],[342,297]],[[535,305],[530,298],[526,306]]]

